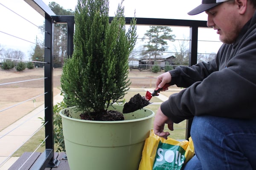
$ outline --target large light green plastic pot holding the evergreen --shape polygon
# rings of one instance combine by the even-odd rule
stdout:
[[[113,107],[109,109],[122,112],[123,105]],[[124,121],[86,121],[80,114],[76,107],[60,112],[71,170],[138,170],[151,130],[152,110],[124,114]]]

